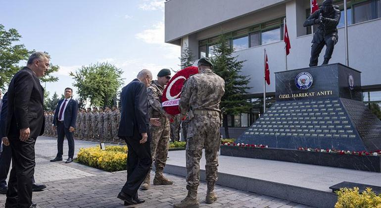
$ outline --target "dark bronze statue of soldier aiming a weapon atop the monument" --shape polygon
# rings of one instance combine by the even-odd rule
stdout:
[[[332,0],[324,0],[322,7],[316,10],[304,22],[304,27],[318,25],[314,33],[311,47],[310,67],[318,65],[319,54],[326,45],[323,65],[328,64],[332,57],[334,45],[337,43],[337,24],[340,21],[340,10],[337,5],[332,4]]]

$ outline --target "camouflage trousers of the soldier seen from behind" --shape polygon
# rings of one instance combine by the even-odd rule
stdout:
[[[186,160],[187,183],[197,189],[200,184],[200,159],[205,148],[206,182],[209,185],[217,181],[218,156],[220,150],[220,117],[215,115],[195,115],[188,129]]]

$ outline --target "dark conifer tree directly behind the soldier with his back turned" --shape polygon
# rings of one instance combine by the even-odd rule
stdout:
[[[228,115],[236,115],[247,112],[251,104],[247,102],[244,95],[247,94],[250,78],[241,74],[244,61],[238,61],[238,56],[233,56],[233,48],[228,44],[226,37],[221,35],[215,45],[212,63],[213,71],[225,80],[225,94],[221,99],[221,108],[225,108],[223,115],[223,127],[225,137],[230,138],[228,127]]]

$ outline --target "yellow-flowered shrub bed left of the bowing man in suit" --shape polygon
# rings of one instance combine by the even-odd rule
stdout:
[[[99,146],[80,148],[77,160],[84,165],[108,172],[127,169],[127,146],[106,146],[101,150]]]

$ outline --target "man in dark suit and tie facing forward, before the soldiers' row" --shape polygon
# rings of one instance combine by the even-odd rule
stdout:
[[[53,117],[53,130],[57,129],[57,156],[50,162],[62,161],[63,155],[63,139],[66,136],[67,143],[69,144],[69,156],[65,163],[73,162],[74,156],[74,137],[75,122],[77,120],[77,101],[71,99],[73,90],[69,87],[65,88],[65,99],[58,102],[55,108]]]

